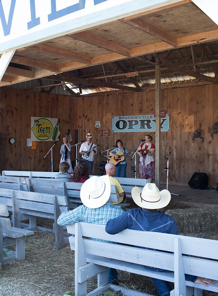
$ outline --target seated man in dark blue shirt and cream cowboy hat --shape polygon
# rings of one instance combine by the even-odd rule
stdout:
[[[138,187],[132,189],[132,198],[134,202],[141,208],[133,208],[126,211],[121,216],[109,220],[106,224],[105,230],[109,234],[116,234],[126,228],[136,229],[142,231],[154,231],[170,234],[178,234],[176,222],[173,217],[160,213],[159,208],[164,208],[168,205],[171,195],[168,190],[164,189],[159,192],[157,186],[153,183],[147,183],[143,190]],[[159,268],[145,266],[147,270],[152,271],[166,271]],[[205,279],[193,275],[185,275],[186,280],[193,283],[214,284],[210,279]],[[170,295],[171,287],[167,281],[152,278],[160,296]]]

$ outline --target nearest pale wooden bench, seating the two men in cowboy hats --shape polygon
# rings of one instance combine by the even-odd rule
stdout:
[[[107,283],[108,268],[174,282],[171,296],[201,296],[201,289],[218,293],[218,241],[130,229],[109,235],[105,232],[104,225],[84,222],[68,225],[67,231],[75,235],[69,237],[71,250],[75,250],[75,296],[99,295],[108,288],[120,290],[124,295],[148,295]],[[160,251],[111,244],[85,237]],[[149,271],[141,265],[172,270],[174,273]],[[215,284],[205,287],[186,281],[184,273],[213,279]],[[97,275],[97,289],[87,293],[87,279],[95,275]]]

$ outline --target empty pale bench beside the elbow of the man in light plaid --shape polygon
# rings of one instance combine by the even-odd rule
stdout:
[[[1,188],[0,203],[12,211],[14,227],[21,228],[22,226],[29,230],[54,232],[55,249],[62,248],[68,242],[68,237],[64,238],[63,227],[57,224],[59,215],[69,209],[66,196]],[[37,226],[37,217],[53,219],[53,229]],[[21,223],[27,219],[29,224]]]

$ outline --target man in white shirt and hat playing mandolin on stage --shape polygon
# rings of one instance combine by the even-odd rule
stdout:
[[[83,160],[88,162],[90,169],[90,174],[92,174],[92,165],[94,160],[94,155],[97,154],[97,146],[92,143],[92,135],[88,133],[86,135],[86,142],[82,143],[79,149],[79,153],[83,154]]]

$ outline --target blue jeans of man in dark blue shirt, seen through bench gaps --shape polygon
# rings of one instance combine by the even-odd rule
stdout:
[[[146,266],[146,265],[142,265],[145,269],[147,270],[151,270],[151,271],[159,271],[159,272],[172,272],[170,270],[165,270],[165,269],[160,269],[160,268],[156,268],[156,267],[151,267],[151,266]],[[154,279],[151,278],[153,283],[155,284],[160,296],[164,296],[168,293],[170,293],[170,291],[172,290],[172,288],[170,287],[169,283],[167,281],[164,281],[163,279]],[[191,281],[192,283],[194,283],[197,279],[197,276],[194,275],[186,275],[185,274],[185,280],[187,281]]]

